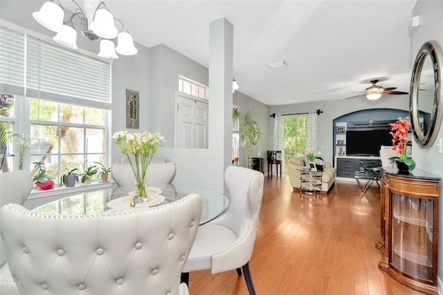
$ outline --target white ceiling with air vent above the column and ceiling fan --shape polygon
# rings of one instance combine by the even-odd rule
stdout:
[[[234,26],[238,91],[266,105],[341,100],[372,78],[408,92],[415,2],[105,1],[136,42],[165,44],[204,66],[209,23],[226,18]],[[282,60],[288,65],[267,66]],[[348,101],[355,99],[366,98]]]

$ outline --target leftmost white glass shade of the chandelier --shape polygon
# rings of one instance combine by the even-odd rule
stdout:
[[[58,32],[62,28],[64,12],[60,1],[46,1],[39,11],[33,12],[33,17],[45,28]]]

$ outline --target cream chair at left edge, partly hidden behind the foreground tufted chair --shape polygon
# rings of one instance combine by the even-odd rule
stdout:
[[[24,170],[0,174],[0,207],[8,204],[24,204],[30,190],[33,188],[33,177]],[[1,214],[1,213],[0,213]],[[1,216],[1,215],[0,215]],[[0,217],[1,218],[1,217]],[[0,223],[0,227],[2,224]],[[6,254],[3,250],[3,240],[0,239],[0,294],[19,294],[19,289],[9,271]]]

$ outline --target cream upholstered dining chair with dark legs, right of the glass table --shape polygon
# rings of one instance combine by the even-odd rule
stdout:
[[[237,269],[241,275],[242,268],[249,294],[255,294],[249,260],[255,243],[264,177],[256,170],[229,166],[225,181],[230,195],[228,211],[200,226],[183,268],[182,280],[188,283],[190,271],[210,269],[217,274]]]

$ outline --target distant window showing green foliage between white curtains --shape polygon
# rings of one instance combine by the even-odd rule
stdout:
[[[305,154],[307,115],[284,118],[284,163]]]

